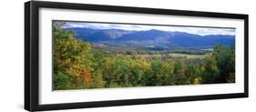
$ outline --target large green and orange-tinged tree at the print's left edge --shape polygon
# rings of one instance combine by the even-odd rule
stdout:
[[[73,89],[90,87],[93,71],[91,46],[74,38],[74,32],[62,29],[61,25],[64,24],[54,23],[54,77],[56,80],[59,76],[68,78],[67,86]]]

